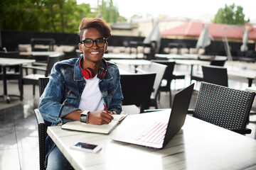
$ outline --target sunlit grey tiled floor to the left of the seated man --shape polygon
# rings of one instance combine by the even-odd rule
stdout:
[[[10,94],[16,91],[16,86],[14,81],[9,82]],[[38,96],[33,99],[31,89],[32,86],[25,86],[22,103],[11,97],[11,103],[6,104],[0,98],[0,169],[39,169],[38,132],[33,113]]]

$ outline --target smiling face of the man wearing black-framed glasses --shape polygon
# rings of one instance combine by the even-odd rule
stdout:
[[[82,40],[87,38],[97,40],[102,38],[102,35],[96,28],[87,28],[82,35]],[[105,50],[107,50],[107,43],[103,47],[98,47],[96,42],[93,42],[92,47],[85,47],[84,43],[80,43],[78,47],[82,51],[85,61],[100,62]]]

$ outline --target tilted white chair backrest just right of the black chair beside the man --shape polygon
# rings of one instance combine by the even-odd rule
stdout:
[[[161,81],[164,77],[164,72],[166,72],[166,65],[164,64],[159,64],[156,62],[151,62],[150,67],[149,67],[149,72],[155,72],[156,73],[156,79],[154,81],[154,98],[156,98],[158,92],[159,92],[159,88],[161,85]]]

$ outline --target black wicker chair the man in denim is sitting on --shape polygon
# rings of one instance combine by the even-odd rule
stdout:
[[[49,78],[40,78],[38,79],[39,84],[39,95],[43,94],[44,89],[48,84]],[[36,120],[38,122],[38,142],[39,142],[39,164],[40,169],[46,169],[45,161],[46,161],[46,152],[45,152],[45,145],[46,145],[46,137],[47,137],[47,127],[51,125],[51,123],[43,120],[41,113],[39,112],[38,108],[35,110],[36,113]]]

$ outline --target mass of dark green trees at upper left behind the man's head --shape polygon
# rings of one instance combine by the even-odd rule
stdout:
[[[125,20],[112,0],[102,0],[95,11],[90,4],[77,5],[76,0],[0,0],[0,29],[78,33],[81,18],[99,12],[107,23]]]

